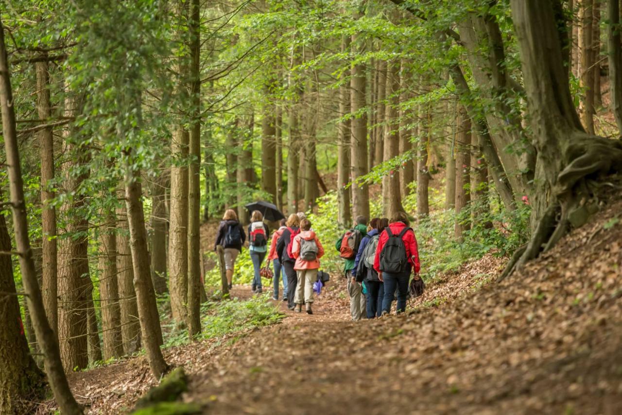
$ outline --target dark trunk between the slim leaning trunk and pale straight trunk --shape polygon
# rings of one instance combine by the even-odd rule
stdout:
[[[207,180],[206,180],[207,181]],[[151,189],[151,279],[156,292],[163,294],[166,285],[166,186],[163,178]]]

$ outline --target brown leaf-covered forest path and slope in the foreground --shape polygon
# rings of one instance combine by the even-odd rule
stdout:
[[[614,414],[622,406],[622,201],[491,281],[486,255],[429,284],[406,315],[349,321],[333,275],[314,314],[164,350],[183,401],[216,414]],[[249,298],[249,287],[233,295]],[[263,295],[270,295],[264,292]],[[155,384],[144,358],[74,373],[91,413],[123,413]],[[48,408],[49,409],[49,408]]]

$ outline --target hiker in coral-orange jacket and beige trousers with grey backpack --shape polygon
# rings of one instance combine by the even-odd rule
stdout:
[[[320,269],[320,258],[324,255],[324,248],[315,232],[311,230],[309,219],[300,221],[300,233],[292,241],[292,255],[296,259],[294,269],[298,277],[295,300],[296,311],[302,312],[305,305],[307,314],[313,314],[313,283],[317,280],[317,272]]]

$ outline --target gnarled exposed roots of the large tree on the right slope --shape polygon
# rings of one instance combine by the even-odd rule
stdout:
[[[565,158],[568,163],[557,176],[554,199],[539,220],[529,243],[514,252],[497,282],[552,249],[570,229],[585,224],[598,210],[590,200],[601,187],[599,179],[622,171],[622,143],[582,133],[567,148]]]

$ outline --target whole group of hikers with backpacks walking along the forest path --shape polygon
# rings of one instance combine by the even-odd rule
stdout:
[[[251,214],[248,226],[249,253],[253,261],[252,290],[263,291],[262,263],[266,258],[274,267],[272,299],[280,300],[279,280],[282,276],[282,300],[290,310],[313,314],[313,285],[321,279],[320,258],[324,247],[312,230],[304,212],[292,213],[279,222],[272,233],[259,211]],[[233,271],[238,254],[246,242],[246,232],[233,209],[223,216],[216,236],[215,248],[225,250],[226,279],[231,289]],[[352,320],[381,317],[391,312],[397,297],[397,313],[406,310],[409,281],[419,280],[419,252],[414,231],[404,212],[391,218],[356,217],[356,224],[336,242],[335,249],[344,259],[343,275],[350,295]],[[319,274],[318,274],[319,272]]]

